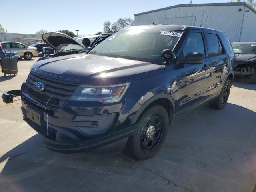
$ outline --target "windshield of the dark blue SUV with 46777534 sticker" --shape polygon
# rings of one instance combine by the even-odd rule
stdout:
[[[161,53],[173,50],[182,31],[120,30],[102,41],[91,54],[162,64]]]

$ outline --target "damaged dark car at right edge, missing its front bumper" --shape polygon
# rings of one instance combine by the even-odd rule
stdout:
[[[235,61],[234,74],[248,76],[250,83],[256,84],[256,42],[232,43]]]

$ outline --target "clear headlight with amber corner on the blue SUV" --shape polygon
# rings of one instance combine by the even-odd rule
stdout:
[[[72,94],[70,100],[114,103],[123,98],[129,86],[130,82],[107,86],[80,85]]]

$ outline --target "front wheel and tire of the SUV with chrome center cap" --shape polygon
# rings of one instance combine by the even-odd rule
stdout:
[[[159,104],[149,106],[138,120],[138,133],[128,138],[124,151],[138,160],[154,156],[166,138],[168,126],[165,108]]]

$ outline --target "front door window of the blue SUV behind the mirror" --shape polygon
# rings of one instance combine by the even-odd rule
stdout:
[[[201,33],[191,33],[183,47],[183,56],[185,57],[188,53],[202,53],[205,56],[204,41]]]

